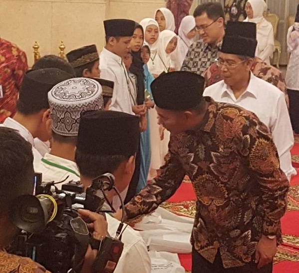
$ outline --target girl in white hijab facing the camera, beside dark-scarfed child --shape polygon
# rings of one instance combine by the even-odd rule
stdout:
[[[148,70],[151,74],[157,74],[156,61],[158,59],[158,40],[159,40],[159,25],[153,18],[144,18],[139,23],[143,27],[144,40],[148,43],[151,55],[147,63]]]

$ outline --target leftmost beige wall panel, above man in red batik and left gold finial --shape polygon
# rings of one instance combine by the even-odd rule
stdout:
[[[26,52],[29,66],[35,40],[41,55],[51,50],[51,5],[49,1],[0,0],[0,36]]]

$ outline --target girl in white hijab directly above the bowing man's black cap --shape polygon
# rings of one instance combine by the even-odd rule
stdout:
[[[175,70],[171,53],[176,49],[177,41],[177,35],[173,31],[167,29],[161,31],[158,41],[158,58],[155,64],[158,75]]]

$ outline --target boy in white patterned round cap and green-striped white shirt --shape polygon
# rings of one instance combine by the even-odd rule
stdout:
[[[51,111],[52,149],[37,164],[42,181],[80,180],[75,159],[75,147],[80,114],[99,110],[103,106],[102,87],[93,79],[71,78],[55,85],[48,92]],[[57,184],[61,189],[62,183]]]

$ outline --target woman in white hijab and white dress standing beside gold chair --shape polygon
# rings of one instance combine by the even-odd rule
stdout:
[[[274,31],[272,24],[263,16],[266,9],[267,4],[264,0],[248,0],[246,3],[247,18],[244,21],[257,24],[258,46],[256,56],[270,64],[270,58],[272,58],[275,49]]]

